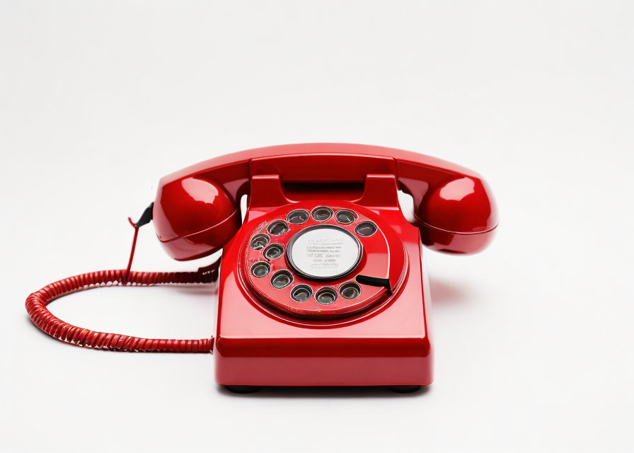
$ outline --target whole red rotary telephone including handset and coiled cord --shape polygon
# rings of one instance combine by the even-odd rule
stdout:
[[[413,197],[414,225],[400,211],[398,190]],[[248,195],[243,222],[242,195]],[[131,271],[138,228],[151,219],[176,260],[222,249],[221,263],[190,273]],[[215,342],[216,381],[234,391],[412,391],[432,382],[421,245],[480,251],[492,239],[497,210],[478,173],[440,159],[359,144],[292,144],[221,156],[166,176],[133,226],[126,270],[77,275],[30,294],[26,307],[36,326],[67,343],[108,350],[210,352]],[[78,289],[218,276],[215,340],[94,332],[46,308]]]

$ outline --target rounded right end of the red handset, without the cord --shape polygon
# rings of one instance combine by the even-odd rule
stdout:
[[[493,239],[497,207],[487,183],[454,175],[430,185],[414,215],[422,242],[445,253],[477,253]]]

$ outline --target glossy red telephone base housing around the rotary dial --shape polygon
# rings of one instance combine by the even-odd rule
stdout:
[[[396,179],[367,176],[364,193],[359,197],[351,191],[354,197],[346,201],[321,199],[318,186],[313,188],[311,205],[345,203],[355,212],[371,210],[374,219],[381,219],[377,222],[381,229],[398,236],[390,247],[404,250],[409,257],[407,265],[394,266],[404,274],[391,294],[384,293],[380,302],[337,319],[292,316],[263,303],[243,281],[243,268],[238,264],[243,244],[261,231],[262,220],[279,210],[282,198],[286,198],[285,210],[306,206],[306,202],[289,200],[275,178],[254,178],[254,183],[245,223],[224,249],[221,263],[214,351],[217,382],[256,386],[430,384],[429,292],[420,234],[400,212]]]

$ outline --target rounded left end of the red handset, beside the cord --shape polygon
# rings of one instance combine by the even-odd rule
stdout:
[[[204,176],[161,180],[153,217],[159,241],[175,260],[219,251],[241,225],[234,197]]]

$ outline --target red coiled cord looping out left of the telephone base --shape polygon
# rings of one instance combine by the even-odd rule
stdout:
[[[132,223],[132,221],[130,222]],[[106,349],[129,352],[211,352],[214,338],[202,340],[164,340],[138,338],[118,333],[91,331],[87,328],[73,326],[54,316],[47,305],[55,299],[71,292],[91,289],[93,287],[117,285],[165,285],[209,283],[216,280],[220,260],[200,268],[195,272],[135,272],[130,271],[134,248],[137,243],[139,227],[134,226],[134,239],[127,269],[100,270],[74,277],[64,278],[46,285],[39,291],[30,294],[26,299],[26,311],[31,321],[41,331],[65,343],[86,348]]]

